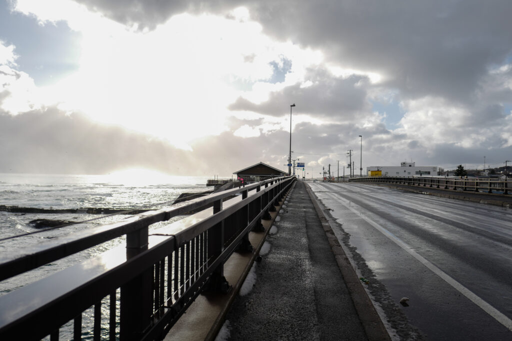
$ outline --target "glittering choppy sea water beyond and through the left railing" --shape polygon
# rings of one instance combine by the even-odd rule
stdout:
[[[161,174],[110,174],[110,175],[54,175],[54,174],[1,174],[0,205],[40,209],[160,209],[170,206],[184,192],[206,191],[208,177],[165,176]],[[120,221],[126,214],[88,214],[86,210],[77,213],[13,213],[0,212],[0,255],[13,256],[36,243],[74,232],[91,229],[101,224]],[[63,226],[58,229],[36,229],[34,219],[72,220],[84,223]],[[177,221],[182,216],[170,220]],[[156,229],[162,222],[150,226]],[[34,234],[34,232],[37,232]],[[28,234],[28,235],[27,235]],[[6,239],[8,237],[14,237]],[[64,259],[41,266],[32,271],[0,282],[0,295],[49,276],[56,271],[94,257],[109,248],[124,243],[120,237],[93,248],[84,250]],[[2,257],[3,258],[3,257]],[[119,291],[119,290],[118,290]],[[105,300],[108,300],[106,298]],[[102,306],[108,309],[108,304]],[[92,339],[93,313],[83,313],[82,339]],[[105,314],[105,316],[108,315]],[[108,321],[102,321],[108,326]],[[102,333],[106,333],[106,328]],[[72,335],[72,321],[61,328],[61,337]]]

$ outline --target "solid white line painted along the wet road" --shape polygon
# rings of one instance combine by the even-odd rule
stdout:
[[[381,225],[376,223],[375,221],[371,220],[368,217],[365,217],[361,212],[355,210],[355,207],[359,207],[357,204],[354,204],[350,200],[347,200],[345,198],[334,196],[332,193],[326,193],[329,196],[331,196],[333,199],[338,200],[339,202],[343,203],[343,205],[348,208],[350,211],[357,214],[361,219],[368,222],[370,225],[372,225],[376,230],[378,230],[380,233],[388,237],[391,241],[393,241],[395,244],[400,246],[404,251],[406,251],[408,254],[416,258],[421,264],[429,268],[434,274],[442,278],[446,283],[450,284],[453,288],[455,288],[457,291],[462,293],[466,298],[470,299],[473,303],[475,303],[477,306],[479,306],[483,311],[488,313],[490,316],[494,317],[496,321],[501,323],[503,326],[508,328],[510,331],[512,331],[512,320],[510,320],[507,316],[505,316],[503,313],[501,313],[499,310],[494,308],[492,305],[488,304],[484,300],[482,300],[478,295],[476,295],[474,292],[472,292],[470,289],[466,288],[459,282],[457,282],[455,279],[450,277],[446,272],[420,256],[418,253],[416,253],[409,245],[401,241],[397,236],[395,236],[393,233],[388,231],[387,229],[383,228]]]

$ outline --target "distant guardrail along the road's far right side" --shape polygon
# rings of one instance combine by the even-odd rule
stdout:
[[[454,178],[425,176],[369,176],[349,179],[349,182],[371,182],[401,184],[409,186],[435,187],[445,190],[463,190],[474,192],[503,192],[512,190],[512,181],[485,178]]]

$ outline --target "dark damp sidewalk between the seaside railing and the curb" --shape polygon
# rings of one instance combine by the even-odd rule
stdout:
[[[220,339],[390,339],[301,181],[288,195],[261,255],[242,288],[249,292],[234,299]]]

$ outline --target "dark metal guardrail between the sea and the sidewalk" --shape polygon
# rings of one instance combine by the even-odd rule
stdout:
[[[270,219],[269,211],[275,211],[295,180],[274,178],[210,194],[0,256],[4,280],[126,236],[125,247],[0,297],[0,339],[49,335],[53,341],[69,333],[61,336],[78,340],[84,311],[92,315],[86,317],[93,320],[94,340],[162,339],[201,292],[229,289],[224,262],[235,251],[252,252],[249,232],[262,229],[261,219]],[[156,222],[211,204],[148,232]]]

